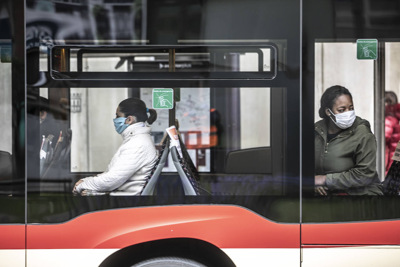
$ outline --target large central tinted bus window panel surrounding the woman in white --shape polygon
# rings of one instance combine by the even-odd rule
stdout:
[[[238,2],[226,10],[218,1],[134,1],[118,4],[135,10],[134,21],[121,24],[114,3],[103,2],[54,2],[46,11],[49,23],[38,19],[43,5],[27,3],[27,46],[34,48],[27,54],[27,98],[48,100],[56,128],[41,149],[43,136],[38,141],[33,133],[47,119],[27,124],[36,140],[28,143],[38,147],[27,157],[27,221],[60,223],[114,208],[223,204],[298,222],[300,33],[296,24],[286,27],[280,13],[298,21],[299,3]],[[265,11],[254,16],[249,4]],[[116,195],[115,188],[110,195],[73,195],[80,179],[101,177],[124,142],[112,121],[118,103],[136,97],[151,109],[154,88],[174,90],[176,103],[157,110],[151,142],[160,154],[168,150],[160,143],[175,124],[182,158],[179,152],[172,157],[172,146],[147,195]],[[196,195],[182,180],[186,171],[198,184]]]

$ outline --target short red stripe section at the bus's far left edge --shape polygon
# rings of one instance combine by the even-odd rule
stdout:
[[[25,225],[0,225],[0,249],[25,249]]]

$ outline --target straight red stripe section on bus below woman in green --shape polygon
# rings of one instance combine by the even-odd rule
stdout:
[[[303,224],[302,244],[400,244],[400,221]]]

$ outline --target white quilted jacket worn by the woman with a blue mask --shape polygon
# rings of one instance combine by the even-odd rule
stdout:
[[[81,179],[83,182],[76,190],[79,193],[87,190],[113,191],[110,195],[138,195],[158,158],[150,131],[151,127],[144,122],[128,126],[121,133],[124,141],[106,171],[95,177]]]

